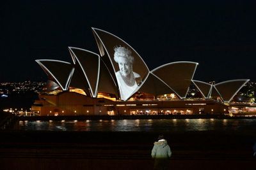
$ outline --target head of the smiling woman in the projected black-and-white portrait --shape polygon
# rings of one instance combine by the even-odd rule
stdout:
[[[132,63],[134,61],[134,57],[131,55],[132,52],[123,46],[116,46],[114,50],[114,60],[118,63],[120,74],[129,76],[132,72]]]

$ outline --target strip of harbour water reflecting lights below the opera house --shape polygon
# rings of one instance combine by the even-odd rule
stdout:
[[[20,121],[24,131],[252,131],[256,119]]]

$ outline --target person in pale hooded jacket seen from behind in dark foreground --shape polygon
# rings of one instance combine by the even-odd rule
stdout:
[[[154,169],[167,169],[168,159],[172,156],[172,151],[163,134],[159,135],[158,141],[154,143],[151,152],[154,162]]]

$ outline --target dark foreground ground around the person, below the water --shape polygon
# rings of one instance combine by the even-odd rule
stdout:
[[[153,169],[159,132],[0,131],[0,169]],[[169,169],[256,169],[255,131],[165,133]]]

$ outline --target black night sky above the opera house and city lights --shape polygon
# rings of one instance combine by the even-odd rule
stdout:
[[[255,81],[255,8],[254,1],[3,1],[0,82],[47,80],[35,60],[71,62],[68,46],[99,53],[91,27],[129,43],[150,70],[188,60],[199,63],[195,80]]]

